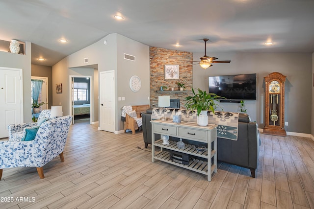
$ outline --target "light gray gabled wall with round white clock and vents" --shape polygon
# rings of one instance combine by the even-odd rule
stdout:
[[[107,40],[107,45],[104,45]],[[125,60],[123,53],[136,57],[136,62]],[[89,58],[87,64],[84,58]],[[62,83],[69,88],[69,75],[73,75],[76,67],[98,65],[98,71],[115,70],[115,130],[123,130],[121,110],[124,105],[149,104],[149,46],[133,41],[119,34],[109,34],[93,45],[87,46],[67,56],[52,66],[52,85]],[[134,93],[130,90],[129,80],[132,75],[141,78],[142,88]],[[118,101],[125,97],[125,101]],[[63,106],[63,114],[69,113],[69,92],[53,93],[53,104]],[[100,117],[99,117],[100,118]]]

